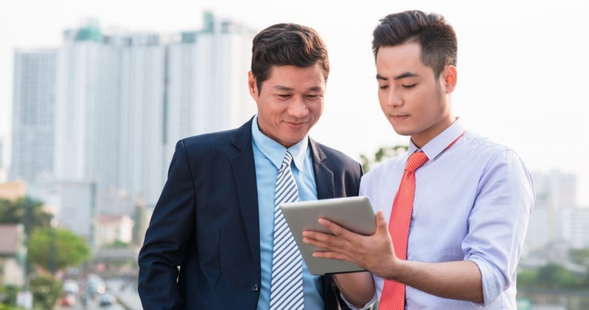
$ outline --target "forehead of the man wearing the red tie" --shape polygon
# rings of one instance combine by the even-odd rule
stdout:
[[[421,61],[421,45],[418,42],[395,46],[382,46],[376,54],[376,70],[389,77],[405,72],[425,72],[429,67]]]

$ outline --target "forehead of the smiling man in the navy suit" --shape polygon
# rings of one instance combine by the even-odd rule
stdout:
[[[323,71],[319,64],[306,68],[292,65],[272,66],[270,77],[264,84],[281,85],[290,88],[308,88],[325,85]]]

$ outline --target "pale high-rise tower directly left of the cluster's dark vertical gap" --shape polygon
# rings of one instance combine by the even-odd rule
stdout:
[[[157,34],[123,38],[118,187],[155,203],[164,186],[166,46]]]

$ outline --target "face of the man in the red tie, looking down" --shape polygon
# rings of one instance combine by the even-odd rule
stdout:
[[[456,85],[456,68],[439,78],[421,61],[421,46],[408,42],[381,46],[376,55],[380,108],[399,135],[411,136],[421,148],[454,122],[449,94]]]

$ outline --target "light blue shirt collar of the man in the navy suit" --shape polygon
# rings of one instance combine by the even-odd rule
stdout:
[[[260,131],[256,115],[252,122],[252,142],[278,169],[282,166],[282,160],[284,159],[286,151],[289,151],[290,154],[293,155],[294,165],[299,171],[303,172],[303,164],[305,163],[306,158],[305,154],[307,153],[307,147],[309,146],[309,135],[306,135],[305,138],[299,141],[299,143],[290,146],[290,148],[287,149]]]

